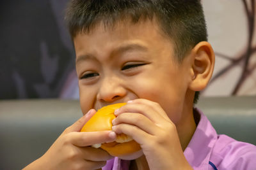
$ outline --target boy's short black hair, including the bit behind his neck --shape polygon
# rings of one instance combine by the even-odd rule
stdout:
[[[204,11],[200,0],[72,0],[65,20],[72,38],[88,33],[96,24],[113,27],[118,21],[156,18],[159,28],[174,43],[174,55],[182,62],[200,41],[207,41]],[[195,93],[194,103],[199,92]]]

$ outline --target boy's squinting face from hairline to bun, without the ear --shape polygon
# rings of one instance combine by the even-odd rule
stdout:
[[[191,66],[188,57],[174,62],[173,43],[156,22],[118,22],[113,29],[99,24],[77,34],[74,46],[83,113],[142,98],[159,103],[179,124]]]

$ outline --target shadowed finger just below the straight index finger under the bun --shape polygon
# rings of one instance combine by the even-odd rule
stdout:
[[[84,155],[85,160],[106,161],[109,159],[113,159],[113,156],[109,155],[108,152],[102,150],[101,148],[93,148],[88,146],[80,148],[80,151]]]

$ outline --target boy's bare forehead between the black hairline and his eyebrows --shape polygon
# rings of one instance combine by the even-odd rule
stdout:
[[[122,20],[111,27],[99,22],[89,32],[80,32],[74,38],[77,57],[84,53],[103,55],[126,48],[147,48],[148,52],[153,52],[154,48],[163,48],[166,45],[173,51],[172,41],[164,35],[156,20],[141,20],[136,24]]]

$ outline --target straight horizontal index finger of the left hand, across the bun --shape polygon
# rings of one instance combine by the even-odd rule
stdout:
[[[97,143],[112,142],[116,139],[116,134],[112,131],[71,132],[67,135],[68,142],[79,147],[91,146]]]

